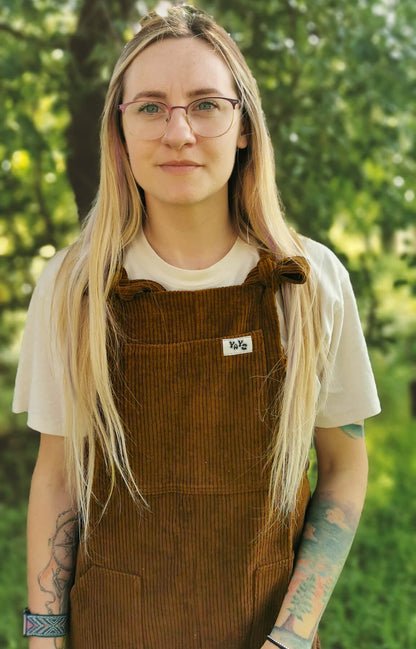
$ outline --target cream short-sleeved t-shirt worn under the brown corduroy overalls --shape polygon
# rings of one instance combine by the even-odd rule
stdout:
[[[371,417],[380,403],[347,271],[325,246],[303,240],[306,258],[321,289],[323,336],[331,366],[328,385],[317,377],[316,426],[331,428]],[[51,299],[63,250],[47,264],[30,303],[13,400],[14,412],[28,412],[28,426],[45,434],[64,434],[64,406],[58,357],[52,352]],[[237,239],[225,257],[209,268],[185,270],[161,259],[143,232],[129,246],[124,267],[130,279],[149,279],[167,290],[200,290],[242,284],[257,264],[259,253]],[[282,345],[287,332],[280,293],[276,295]],[[325,394],[325,400],[320,396]]]

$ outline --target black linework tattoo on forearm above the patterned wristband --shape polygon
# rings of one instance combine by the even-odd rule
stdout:
[[[78,517],[71,509],[56,519],[56,530],[49,539],[49,547],[51,557],[38,575],[38,584],[48,597],[45,602],[48,614],[57,615],[68,611],[78,547]]]

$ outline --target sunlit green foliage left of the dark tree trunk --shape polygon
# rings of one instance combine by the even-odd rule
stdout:
[[[39,272],[77,223],[65,174],[65,43],[69,4],[0,8],[0,430],[10,430],[11,386],[28,301]],[[15,423],[15,422],[14,422]]]

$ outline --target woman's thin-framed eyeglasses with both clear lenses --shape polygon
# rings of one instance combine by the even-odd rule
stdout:
[[[167,106],[161,101],[129,101],[120,104],[119,110],[129,133],[139,140],[157,140],[168,128],[172,111],[182,108],[195,135],[220,137],[227,133],[234,121],[238,99],[228,97],[203,97],[187,106]]]

